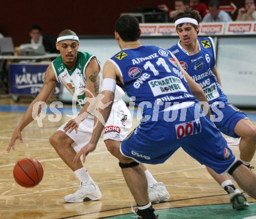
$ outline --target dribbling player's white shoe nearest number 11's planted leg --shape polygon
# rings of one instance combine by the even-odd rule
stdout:
[[[162,182],[148,185],[148,196],[150,197],[150,202],[152,204],[166,202],[170,198],[169,192]]]

